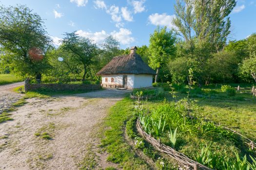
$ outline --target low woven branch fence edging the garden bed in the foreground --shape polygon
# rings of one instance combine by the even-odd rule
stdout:
[[[151,145],[153,145],[155,148],[157,148],[158,151],[162,153],[168,154],[171,158],[175,159],[177,163],[182,167],[190,167],[190,169],[194,170],[213,170],[210,169],[202,164],[199,164],[198,162],[188,158],[183,153],[179,153],[175,151],[173,148],[166,146],[162,144],[160,141],[155,139],[154,137],[147,134],[141,127],[139,120],[137,119],[137,130],[138,133],[143,136]]]

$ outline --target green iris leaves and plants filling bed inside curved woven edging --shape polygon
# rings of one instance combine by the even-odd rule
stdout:
[[[196,157],[200,163],[211,164],[211,168],[222,165],[226,158],[229,159],[227,162],[236,163],[237,157],[233,151],[239,154],[246,151],[240,145],[241,139],[232,132],[200,117],[195,118],[193,113],[199,112],[200,108],[187,99],[177,103],[158,103],[149,113],[145,113],[147,105],[144,104],[144,107],[139,112],[139,120],[148,134],[189,157]],[[209,147],[200,150],[200,143],[209,144]],[[225,159],[222,161],[222,158]]]

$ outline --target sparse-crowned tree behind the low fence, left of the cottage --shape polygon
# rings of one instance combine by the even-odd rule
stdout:
[[[83,66],[82,81],[84,81],[93,57],[98,55],[97,45],[89,38],[81,37],[75,32],[66,33],[62,42],[63,49],[72,52],[74,60]]]

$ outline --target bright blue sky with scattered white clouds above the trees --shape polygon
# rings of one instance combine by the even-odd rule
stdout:
[[[25,4],[45,19],[49,35],[57,43],[64,32],[102,43],[108,35],[121,48],[148,45],[157,25],[172,27],[175,0],[0,0],[3,5]],[[256,32],[256,0],[237,0],[230,15],[231,40]]]

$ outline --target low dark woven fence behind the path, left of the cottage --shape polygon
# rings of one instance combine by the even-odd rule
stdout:
[[[68,84],[28,84],[25,82],[25,91],[87,91],[100,89],[100,85],[68,85]]]

